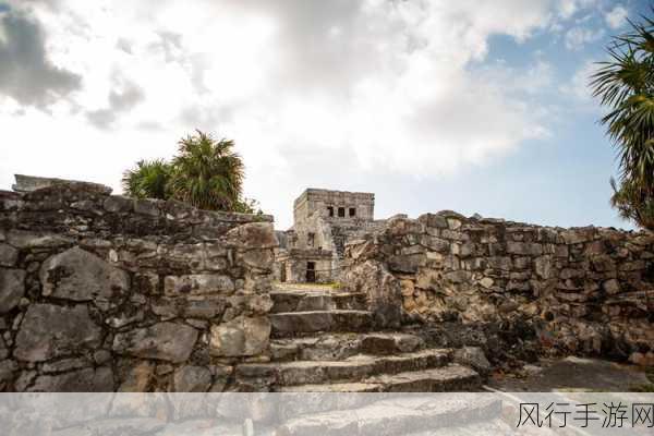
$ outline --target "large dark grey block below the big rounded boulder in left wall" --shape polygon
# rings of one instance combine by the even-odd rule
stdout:
[[[99,347],[101,334],[85,305],[34,304],[27,308],[21,323],[14,356],[22,361],[41,362],[76,354]]]

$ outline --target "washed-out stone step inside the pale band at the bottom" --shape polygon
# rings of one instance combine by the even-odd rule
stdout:
[[[489,397],[435,399],[431,396],[411,396],[379,400],[356,409],[293,417],[278,427],[276,434],[404,435],[427,431],[424,433],[426,435],[437,429],[456,429],[474,423],[482,424],[481,428],[486,428],[491,423],[498,425],[500,413],[501,402]],[[498,428],[506,429],[507,426],[500,425]]]

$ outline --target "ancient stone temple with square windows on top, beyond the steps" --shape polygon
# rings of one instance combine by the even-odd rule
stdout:
[[[276,278],[282,282],[331,282],[340,276],[346,242],[384,220],[375,220],[375,194],[305,190],[293,204],[293,227],[278,231]]]

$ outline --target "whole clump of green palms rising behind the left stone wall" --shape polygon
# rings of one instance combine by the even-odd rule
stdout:
[[[258,203],[242,196],[245,167],[229,140],[215,141],[196,131],[179,142],[170,162],[141,160],[126,170],[122,184],[135,198],[178,199],[208,210],[262,214]]]

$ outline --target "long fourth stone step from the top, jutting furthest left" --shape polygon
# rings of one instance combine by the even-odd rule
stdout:
[[[315,385],[360,382],[373,375],[398,374],[439,367],[452,359],[452,350],[427,349],[399,355],[359,354],[343,361],[295,361],[284,363],[242,364],[237,378],[266,377],[272,386]]]

